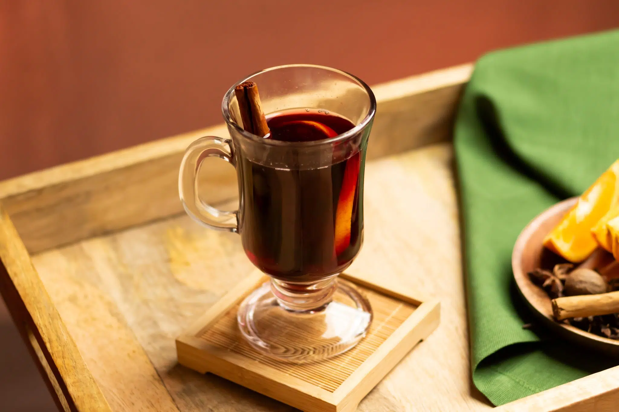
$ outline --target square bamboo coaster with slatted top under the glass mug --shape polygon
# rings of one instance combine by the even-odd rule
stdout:
[[[439,302],[422,302],[352,275],[373,309],[370,331],[342,355],[313,363],[285,363],[262,355],[245,342],[236,309],[268,278],[254,273],[223,296],[176,339],[178,362],[211,372],[306,412],[354,411],[358,403],[439,323]]]

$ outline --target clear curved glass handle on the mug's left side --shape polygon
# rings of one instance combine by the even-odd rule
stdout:
[[[197,190],[197,175],[206,158],[219,158],[236,167],[230,139],[215,136],[199,138],[189,145],[178,174],[178,194],[187,214],[210,229],[238,231],[238,211],[227,212],[201,200]]]

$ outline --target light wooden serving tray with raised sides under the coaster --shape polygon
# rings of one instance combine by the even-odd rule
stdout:
[[[358,410],[490,410],[470,382],[451,128],[470,65],[373,87],[365,239],[348,273],[441,301],[441,324]],[[178,364],[175,338],[253,266],[178,201],[184,149],[217,126],[0,182],[0,291],[63,410],[291,411]],[[236,196],[232,167],[205,199]],[[209,181],[204,182],[209,185]],[[613,411],[619,368],[496,408]]]

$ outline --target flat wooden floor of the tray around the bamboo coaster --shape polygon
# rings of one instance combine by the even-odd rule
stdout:
[[[489,408],[471,396],[451,170],[449,144],[368,162],[365,245],[350,272],[401,293],[436,296],[447,321],[361,401],[360,411]],[[33,262],[113,410],[132,403],[142,410],[289,410],[176,363],[174,339],[253,271],[233,233],[179,216],[45,251]]]

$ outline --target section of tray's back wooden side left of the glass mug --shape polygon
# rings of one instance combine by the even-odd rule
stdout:
[[[178,214],[178,167],[184,149],[203,135],[227,130],[186,133],[7,180],[0,198],[31,253]],[[204,162],[203,169],[210,175],[202,179],[204,200],[236,196],[233,167]]]

